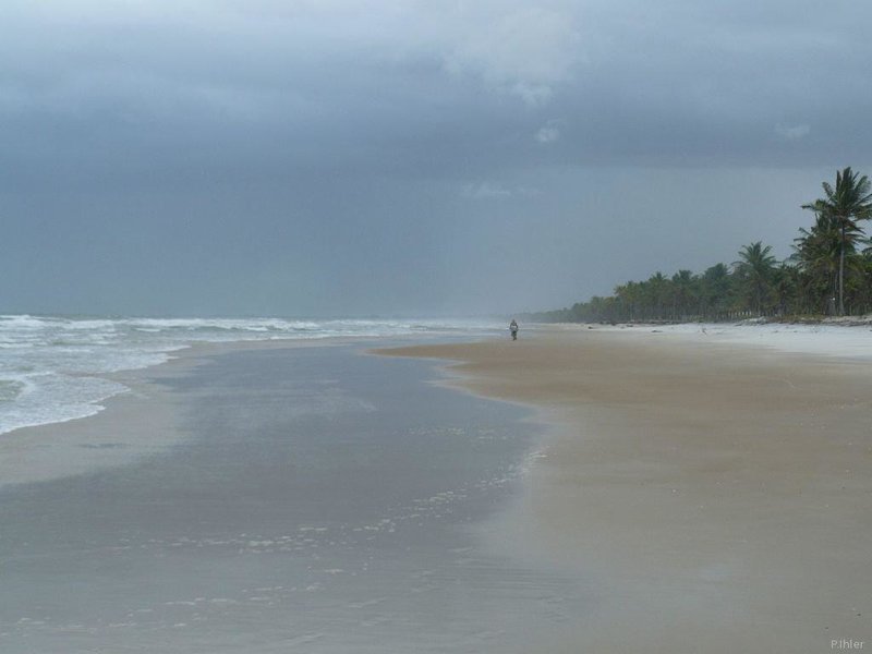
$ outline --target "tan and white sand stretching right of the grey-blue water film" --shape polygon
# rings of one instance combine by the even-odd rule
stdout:
[[[549,425],[487,532],[595,598],[540,651],[872,646],[869,362],[652,331],[382,352],[453,360],[450,385]]]

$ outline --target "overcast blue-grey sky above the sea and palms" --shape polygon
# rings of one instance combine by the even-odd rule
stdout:
[[[872,3],[3,0],[0,313],[481,315],[778,257]]]

